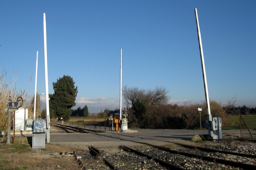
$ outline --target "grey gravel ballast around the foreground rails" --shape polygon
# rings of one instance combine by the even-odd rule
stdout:
[[[156,163],[153,160],[147,159],[146,157],[138,156],[134,153],[129,153],[122,150],[122,148],[119,147],[119,145],[121,145],[119,142],[109,143],[107,145],[106,145],[106,142],[103,142],[102,145],[98,142],[77,143],[77,144],[60,143],[60,145],[65,145],[66,147],[68,147],[69,145],[72,145],[74,147],[75,145],[77,149],[81,149],[81,148],[86,149],[84,150],[84,152],[80,152],[78,154],[81,154],[83,158],[82,161],[84,162],[85,165],[87,164],[89,169],[103,170],[103,169],[106,169],[106,167],[102,167],[102,164],[104,164],[104,162],[102,162],[100,158],[93,158],[91,155],[88,154],[89,153],[88,145],[95,146],[97,149],[102,150],[102,155],[105,156],[105,158],[107,158],[110,162],[112,162],[116,167],[122,170],[151,170],[151,169],[166,170],[168,169],[161,166],[160,164]],[[239,170],[240,169],[233,166],[200,160],[198,158],[190,158],[180,154],[171,154],[169,152],[152,148],[142,144],[134,144],[134,143],[132,144],[131,142],[127,142],[126,144],[122,143],[122,145],[130,146],[133,149],[140,150],[142,152],[145,152],[146,154],[155,156],[156,158],[159,158],[166,162],[170,162],[176,166],[180,166],[188,170],[202,170],[202,169]],[[200,147],[208,147],[208,148],[218,149],[218,150],[226,150],[230,152],[244,153],[244,154],[253,154],[253,155],[256,154],[255,141],[250,140],[249,137],[248,137],[248,140],[241,140],[237,135],[232,135],[232,134],[223,135],[223,140],[220,140],[220,141],[192,142],[192,145],[200,146]],[[222,154],[218,152],[203,152],[200,150],[187,149],[171,143],[166,144],[165,147],[168,147],[168,146],[171,147],[172,150],[177,150],[181,152],[196,153],[202,156],[211,156],[214,158],[221,158],[226,160],[232,160],[234,162],[242,162],[246,164],[256,165],[255,158],[246,158],[246,157],[241,157],[236,155]],[[83,156],[83,154],[85,154],[86,156]]]

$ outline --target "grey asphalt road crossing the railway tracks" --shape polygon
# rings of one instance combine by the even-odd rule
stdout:
[[[55,123],[55,122],[54,122]],[[64,123],[65,124],[65,123]],[[77,126],[77,125],[74,125]],[[87,126],[94,129],[94,126]],[[97,127],[100,129],[100,127]],[[103,130],[104,127],[101,127]],[[109,128],[106,127],[106,130]],[[222,134],[239,134],[239,130],[224,130]],[[104,136],[103,136],[104,135]],[[90,142],[90,143],[114,143],[124,141],[111,137],[119,137],[127,141],[139,141],[152,144],[162,144],[162,141],[188,143],[195,135],[208,135],[208,130],[184,130],[184,129],[128,129],[128,131],[110,131],[106,133],[59,133],[50,134],[51,143],[62,142]],[[164,144],[163,144],[164,145]]]

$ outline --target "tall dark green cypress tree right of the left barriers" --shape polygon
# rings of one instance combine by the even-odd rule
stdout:
[[[62,78],[53,82],[54,94],[50,94],[50,107],[54,109],[54,113],[64,121],[70,119],[72,113],[71,107],[75,106],[76,95],[78,93],[77,86],[72,77],[64,75]]]

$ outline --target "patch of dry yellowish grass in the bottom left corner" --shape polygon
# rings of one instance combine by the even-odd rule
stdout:
[[[74,150],[54,144],[44,149],[31,149],[30,145],[0,144],[0,169],[10,170],[77,170],[81,167],[74,156],[60,156],[60,152]]]

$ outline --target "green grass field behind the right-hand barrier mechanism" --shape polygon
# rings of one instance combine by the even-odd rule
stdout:
[[[255,115],[242,115],[245,123],[249,129],[256,130],[256,116]],[[246,125],[241,119],[242,129],[246,129]],[[239,115],[228,116],[228,123],[223,126],[223,129],[240,129]]]

